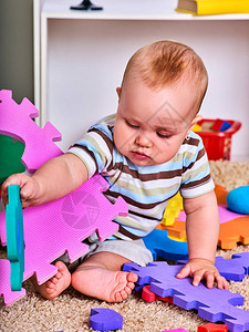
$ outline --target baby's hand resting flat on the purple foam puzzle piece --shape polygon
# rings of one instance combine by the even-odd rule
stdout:
[[[217,282],[219,289],[228,289],[227,280],[219,274],[219,271],[207,259],[195,258],[180,270],[176,278],[193,278],[193,284],[198,286],[201,279],[206,279],[207,288],[212,288],[214,281]]]

